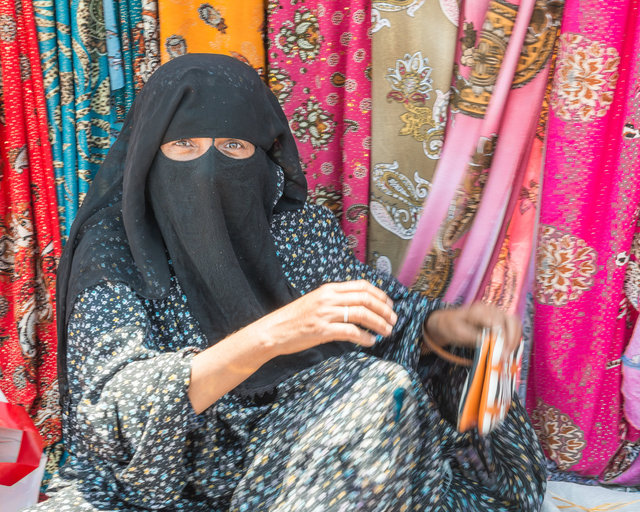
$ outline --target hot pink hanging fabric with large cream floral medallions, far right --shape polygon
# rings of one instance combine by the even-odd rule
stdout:
[[[623,281],[640,205],[638,55],[637,0],[566,2],[527,404],[547,456],[562,470],[603,480],[617,476],[620,447],[639,435],[620,392],[620,357],[636,318]]]

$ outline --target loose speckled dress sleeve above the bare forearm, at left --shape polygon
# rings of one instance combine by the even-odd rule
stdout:
[[[85,464],[102,468],[117,480],[120,498],[144,509],[170,506],[181,495],[186,441],[198,426],[187,389],[204,340],[180,329],[184,348],[172,346],[178,335],[169,331],[178,329],[171,321],[160,332],[130,288],[101,283],[78,296],[68,324],[70,463],[80,472]],[[166,475],[162,485],[158,474]],[[79,485],[116,492],[101,487],[106,480]]]

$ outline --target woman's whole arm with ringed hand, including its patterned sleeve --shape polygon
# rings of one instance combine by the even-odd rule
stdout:
[[[78,297],[68,325],[65,433],[73,460],[113,474],[129,503],[169,506],[187,481],[186,441],[199,424],[196,412],[271,357],[334,339],[371,345],[373,336],[362,327],[386,333],[393,322],[382,291],[364,281],[336,283],[204,348],[199,331],[189,331],[186,311],[150,313],[126,285],[98,284]],[[161,486],[158,474],[166,475]]]

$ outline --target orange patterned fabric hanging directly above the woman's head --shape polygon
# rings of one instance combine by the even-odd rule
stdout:
[[[223,53],[264,75],[264,0],[160,0],[161,60],[185,53]]]

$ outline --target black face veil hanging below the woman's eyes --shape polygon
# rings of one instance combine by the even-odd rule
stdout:
[[[234,159],[215,146],[190,161],[158,152],[148,198],[190,309],[210,344],[298,294],[275,253],[276,166],[261,148]]]

